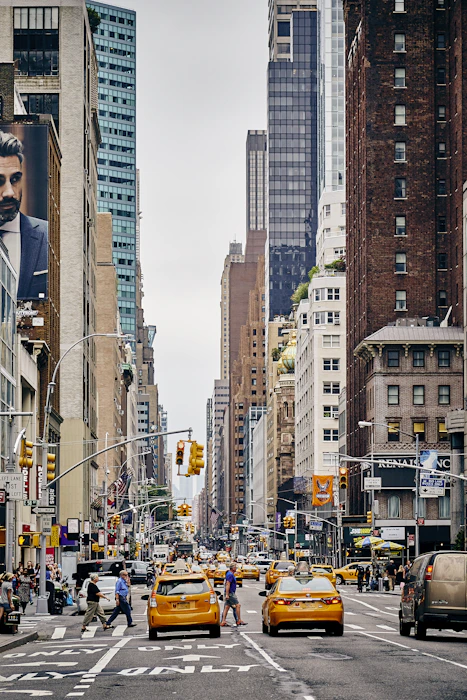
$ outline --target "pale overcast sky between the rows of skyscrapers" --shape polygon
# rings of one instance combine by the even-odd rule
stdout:
[[[245,242],[246,135],[266,128],[268,1],[110,4],[137,12],[143,306],[157,326],[160,403],[169,430],[192,427],[205,444],[220,371],[220,278],[229,242]],[[182,486],[196,493],[202,477]]]

